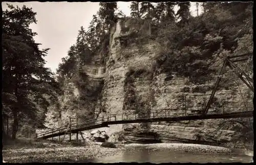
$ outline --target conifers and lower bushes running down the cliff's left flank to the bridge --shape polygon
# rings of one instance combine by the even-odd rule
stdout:
[[[79,91],[78,98],[73,98],[74,110],[79,119],[90,119],[94,117],[94,110],[98,98],[100,97],[103,81],[92,82],[83,66],[103,64],[104,58],[109,53],[110,31],[116,22],[116,18],[122,15],[117,12],[116,3],[99,3],[100,8],[90,22],[88,30],[83,27],[78,31],[76,43],[71,46],[68,56],[62,58],[62,62],[57,69],[57,79],[62,89],[65,89],[68,83],[74,83]]]

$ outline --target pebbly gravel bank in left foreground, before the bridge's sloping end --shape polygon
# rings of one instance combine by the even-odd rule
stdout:
[[[86,146],[75,147],[62,145],[47,148],[3,149],[3,159],[8,163],[26,162],[75,162],[120,153],[122,147],[103,148],[99,144],[90,143]]]

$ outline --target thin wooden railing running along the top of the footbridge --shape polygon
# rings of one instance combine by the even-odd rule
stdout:
[[[201,111],[201,110],[193,110],[193,111]],[[222,111],[221,108],[216,108],[216,111],[219,111],[220,113],[214,113],[214,114],[225,114],[224,111]],[[44,137],[46,135],[54,134],[54,133],[61,133],[61,132],[68,132],[72,131],[73,129],[79,129],[84,127],[91,127],[96,125],[104,124],[104,122],[111,122],[111,121],[126,121],[126,120],[136,120],[136,119],[160,119],[160,118],[172,118],[172,117],[179,117],[179,116],[189,116],[189,115],[201,115],[199,114],[186,114],[186,115],[175,115],[170,114],[170,111],[165,110],[164,112],[155,113],[140,113],[140,114],[125,114],[125,113],[119,113],[119,114],[110,114],[108,116],[101,116],[97,119],[88,120],[86,122],[83,122],[82,124],[74,124],[73,126],[67,127],[59,127],[54,130],[49,130],[45,132],[41,132],[37,134],[37,138]]]

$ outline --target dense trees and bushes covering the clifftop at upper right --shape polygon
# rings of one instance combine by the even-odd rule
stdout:
[[[179,7],[176,13],[175,5]],[[162,45],[162,54],[157,58],[161,72],[176,73],[201,84],[219,72],[226,56],[252,52],[252,6],[242,2],[205,2],[201,3],[203,12],[194,17],[189,12],[189,2],[133,2],[131,16],[140,16],[139,20],[150,18],[150,39]],[[138,38],[145,37],[141,34]]]

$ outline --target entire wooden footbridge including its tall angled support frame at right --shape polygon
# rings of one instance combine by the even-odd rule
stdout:
[[[226,66],[229,66],[238,77],[248,86],[248,88],[254,92],[253,80],[250,78],[242,69],[237,67],[234,62],[248,60],[252,56],[251,54],[244,54],[239,56],[227,57],[224,61],[223,67],[221,69],[220,75],[218,76],[217,82],[214,89],[212,90],[209,101],[204,109],[198,110],[198,114],[186,114],[187,110],[182,108],[182,114],[174,115],[174,109],[166,109],[158,112],[148,112],[147,114],[135,114],[135,113],[121,113],[121,114],[110,114],[106,116],[98,117],[97,119],[86,120],[81,122],[76,122],[75,124],[70,124],[67,127],[60,127],[52,129],[49,131],[41,132],[37,134],[37,138],[47,139],[55,136],[65,135],[71,133],[77,133],[100,127],[108,127],[114,124],[128,124],[128,123],[147,123],[147,122],[168,122],[168,121],[186,121],[186,120],[206,120],[206,119],[227,119],[227,118],[239,118],[239,117],[252,117],[253,108],[247,111],[236,111],[236,112],[225,112],[223,110],[217,110],[218,113],[207,114],[212,100],[214,99],[215,92],[217,90],[218,84],[224,73]],[[177,109],[176,109],[177,111]],[[185,113],[184,113],[185,112]],[[78,136],[78,135],[77,135]],[[71,136],[70,136],[71,137]]]

